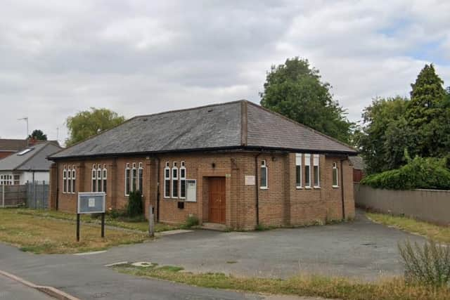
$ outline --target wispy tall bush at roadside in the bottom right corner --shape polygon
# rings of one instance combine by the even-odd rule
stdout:
[[[450,283],[450,245],[430,240],[420,247],[406,240],[399,244],[405,266],[405,280],[442,287]]]

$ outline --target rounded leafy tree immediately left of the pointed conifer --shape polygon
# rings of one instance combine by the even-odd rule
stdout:
[[[409,100],[375,98],[364,109],[363,124],[355,132],[355,143],[366,163],[368,174],[397,169],[406,164],[405,149],[413,136],[405,119]]]

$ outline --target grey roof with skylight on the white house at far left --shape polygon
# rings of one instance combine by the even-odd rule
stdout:
[[[61,148],[51,141],[31,145],[0,159],[0,171],[48,171],[51,162],[46,157],[59,150]]]

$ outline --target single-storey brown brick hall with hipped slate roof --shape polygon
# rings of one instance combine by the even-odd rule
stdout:
[[[108,209],[141,190],[157,221],[233,229],[354,216],[356,150],[246,100],[134,117],[49,157],[51,207],[104,191]]]

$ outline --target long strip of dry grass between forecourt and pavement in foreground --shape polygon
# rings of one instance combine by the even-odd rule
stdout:
[[[179,272],[173,266],[169,268],[158,268],[157,266],[138,268],[131,265],[122,265],[115,266],[115,269],[121,273],[159,278],[198,287],[237,289],[256,293],[320,296],[343,300],[444,300],[449,299],[450,296],[450,289],[447,287],[409,285],[399,278],[367,283],[321,276],[296,276],[287,280],[238,278],[223,273],[193,274]]]

